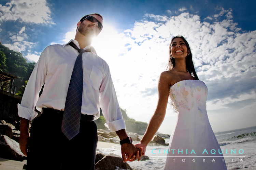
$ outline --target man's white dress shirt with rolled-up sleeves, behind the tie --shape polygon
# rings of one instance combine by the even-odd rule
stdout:
[[[76,40],[70,40],[78,47]],[[68,43],[70,43],[70,41]],[[34,107],[42,111],[43,107],[64,111],[65,102],[79,52],[70,45],[51,45],[44,49],[32,71],[24,91],[22,102],[18,104],[19,117],[32,120],[37,116]],[[105,126],[112,131],[125,129],[111,79],[108,64],[92,46],[84,48],[91,52],[83,53],[83,99],[82,114],[100,117],[100,107],[107,121]],[[39,92],[44,85],[43,92]]]

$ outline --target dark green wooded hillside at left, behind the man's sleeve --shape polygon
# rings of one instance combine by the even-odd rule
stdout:
[[[18,77],[13,85],[25,86],[25,81],[29,79],[35,64],[35,62],[27,63],[22,53],[10,50],[0,43],[0,70]]]

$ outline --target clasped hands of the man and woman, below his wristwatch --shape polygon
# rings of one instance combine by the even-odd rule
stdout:
[[[131,143],[124,143],[121,146],[123,162],[124,163],[127,161],[131,162],[136,159],[138,159],[138,161],[139,161],[142,156],[142,150],[143,150],[143,148],[138,149]]]

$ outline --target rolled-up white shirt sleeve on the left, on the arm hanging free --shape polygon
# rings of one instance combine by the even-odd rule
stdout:
[[[32,120],[37,116],[34,111],[35,104],[38,101],[39,93],[45,81],[47,72],[47,50],[45,49],[35,65],[28,83],[26,85],[22,101],[18,104],[19,117]]]

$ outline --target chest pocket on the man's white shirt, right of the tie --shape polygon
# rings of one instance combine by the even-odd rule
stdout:
[[[93,69],[91,70],[90,73],[90,82],[91,85],[93,86],[93,88],[95,90],[99,90],[101,81],[102,81],[102,72],[100,69],[98,69],[97,67],[93,66]]]

